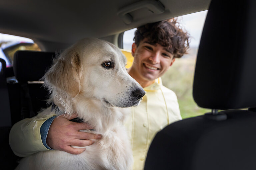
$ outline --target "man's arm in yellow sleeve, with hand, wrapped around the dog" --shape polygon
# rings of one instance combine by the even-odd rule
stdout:
[[[29,156],[38,151],[62,150],[71,154],[80,154],[85,149],[72,148],[75,146],[88,146],[93,143],[90,139],[99,139],[101,136],[79,130],[91,128],[84,123],[75,123],[69,120],[76,117],[60,115],[52,121],[48,130],[40,128],[48,120],[56,115],[37,115],[30,119],[17,122],[10,131],[9,144],[13,152],[20,157]],[[41,134],[43,133],[43,134]],[[46,133],[46,134],[45,134]],[[41,136],[47,136],[44,145]],[[43,139],[44,140],[44,139]],[[49,146],[47,148],[47,146]]]

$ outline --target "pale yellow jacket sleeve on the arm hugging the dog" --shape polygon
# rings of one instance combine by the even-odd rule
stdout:
[[[19,157],[25,157],[39,151],[51,150],[45,147],[45,145],[43,144],[40,128],[44,124],[44,122],[46,122],[48,119],[55,116],[56,115],[53,115],[53,114],[52,115],[38,114],[33,118],[23,119],[17,122],[16,124],[14,124],[9,134],[9,144],[14,154]],[[52,121],[53,121],[53,118],[52,118]],[[50,125],[48,124],[48,126],[46,127],[48,127],[49,129]],[[48,133],[48,129],[47,129],[47,133]],[[46,133],[46,136],[47,136],[47,133]],[[46,136],[45,136],[45,143],[46,143]]]

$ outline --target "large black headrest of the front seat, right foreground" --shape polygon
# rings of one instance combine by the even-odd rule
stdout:
[[[256,106],[256,1],[212,0],[195,68],[198,106],[238,109]]]

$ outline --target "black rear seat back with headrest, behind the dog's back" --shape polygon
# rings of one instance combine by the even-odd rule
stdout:
[[[18,83],[9,84],[12,123],[30,118],[46,108],[49,92],[41,78],[52,64],[55,53],[41,51],[17,51],[13,70]]]

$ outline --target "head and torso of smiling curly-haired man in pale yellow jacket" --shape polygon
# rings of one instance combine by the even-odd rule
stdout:
[[[176,58],[186,53],[188,39],[189,35],[179,27],[176,19],[146,24],[135,32],[134,61],[128,73],[144,88],[146,95],[139,106],[131,108],[132,114],[126,121],[134,170],[144,169],[155,134],[168,124],[181,120],[177,97],[162,85],[160,77]]]

